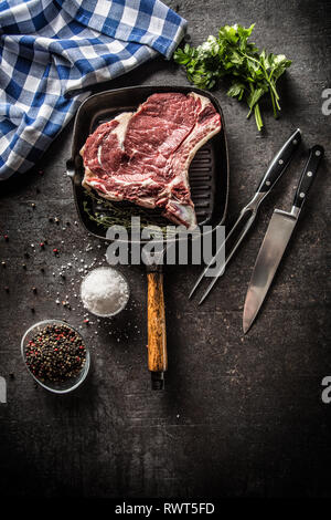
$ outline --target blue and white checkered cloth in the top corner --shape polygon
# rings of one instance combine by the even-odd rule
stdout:
[[[171,58],[185,28],[159,0],[0,0],[0,180],[39,160],[88,86]]]

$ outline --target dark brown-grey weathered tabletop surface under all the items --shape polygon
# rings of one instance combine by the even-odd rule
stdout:
[[[266,112],[264,137],[257,135],[253,119],[245,119],[244,106],[228,100],[223,89],[216,92],[229,142],[228,215],[236,215],[248,200],[295,127],[303,132],[302,149],[202,308],[188,301],[199,267],[167,270],[170,366],[163,393],[150,391],[146,367],[142,268],[121,268],[132,295],[120,316],[89,327],[83,323],[84,312],[74,297],[82,277],[78,269],[94,259],[95,264],[104,262],[105,245],[75,225],[71,183],[64,174],[73,124],[34,171],[4,189],[1,185],[1,236],[10,237],[9,242],[0,240],[1,261],[7,262],[0,272],[0,375],[8,385],[8,403],[0,404],[1,493],[330,496],[331,404],[321,401],[321,381],[331,375],[331,116],[321,112],[322,90],[331,86],[330,2],[168,3],[189,20],[194,44],[226,22],[256,22],[256,43],[293,60],[281,86],[282,117],[275,122]],[[186,80],[174,64],[160,59],[102,89],[136,84],[185,85]],[[243,303],[267,222],[276,205],[290,207],[307,148],[317,142],[327,150],[318,180],[263,313],[243,337]],[[50,216],[57,216],[60,225],[49,222]],[[49,245],[40,250],[44,239]],[[58,258],[54,247],[61,251]],[[67,262],[73,267],[63,280],[61,266]],[[56,304],[66,295],[72,310]],[[36,387],[20,356],[25,329],[54,316],[83,326],[93,354],[86,385],[66,397]]]

